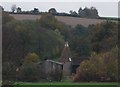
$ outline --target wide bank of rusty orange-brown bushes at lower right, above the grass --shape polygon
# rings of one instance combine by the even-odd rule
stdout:
[[[89,60],[80,64],[74,81],[112,81],[118,80],[118,48],[109,52],[93,52]]]

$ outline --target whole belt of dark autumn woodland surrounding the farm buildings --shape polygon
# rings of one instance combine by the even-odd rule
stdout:
[[[24,75],[32,76],[37,73],[32,70],[33,63],[46,59],[59,61],[64,43],[68,41],[73,58],[87,57],[77,69],[75,82],[118,80],[117,22],[72,28],[51,13],[41,15],[35,21],[18,21],[3,12],[3,79],[16,80],[17,69],[24,64],[31,67]]]

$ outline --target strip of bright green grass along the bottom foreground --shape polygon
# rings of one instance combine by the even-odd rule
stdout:
[[[15,87],[120,87],[118,83],[105,82],[16,82]]]

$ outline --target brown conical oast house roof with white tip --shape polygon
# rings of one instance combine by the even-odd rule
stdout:
[[[64,49],[61,54],[61,62],[70,62],[71,61],[71,51],[69,48],[68,42],[65,42]]]

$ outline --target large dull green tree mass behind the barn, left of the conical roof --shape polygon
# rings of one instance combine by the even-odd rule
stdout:
[[[21,38],[21,44],[23,46],[22,58],[29,52],[37,53],[41,56],[42,60],[44,60],[46,56],[51,59],[60,55],[60,51],[64,44],[63,36],[57,34],[51,27],[41,27],[39,20],[19,21],[19,23],[16,23],[14,26]]]

